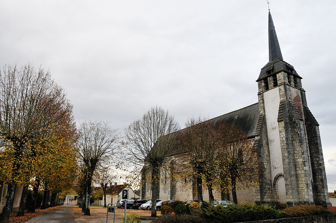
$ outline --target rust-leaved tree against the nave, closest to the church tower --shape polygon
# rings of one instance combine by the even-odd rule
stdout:
[[[218,126],[218,133],[221,146],[219,154],[222,157],[218,160],[218,166],[221,167],[219,175],[226,176],[230,180],[233,202],[237,204],[237,189],[255,186],[259,183],[260,162],[247,133],[235,123],[221,122]],[[223,185],[223,182],[221,183]]]

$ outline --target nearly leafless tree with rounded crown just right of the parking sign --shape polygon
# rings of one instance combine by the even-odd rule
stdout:
[[[170,162],[176,146],[176,132],[180,126],[168,110],[152,107],[127,128],[125,162],[130,163],[133,174],[150,175],[152,185],[152,217],[156,217],[156,200],[159,197],[160,168]]]

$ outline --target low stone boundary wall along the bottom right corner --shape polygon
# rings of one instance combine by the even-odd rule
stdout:
[[[336,222],[336,214],[320,215],[300,218],[283,218],[263,221],[246,221],[244,223],[334,223]]]

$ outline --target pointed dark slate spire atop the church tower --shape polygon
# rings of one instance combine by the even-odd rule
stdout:
[[[277,33],[275,32],[270,11],[268,11],[268,53],[269,61],[273,61],[277,58],[279,58],[280,60],[284,60],[282,58]]]

